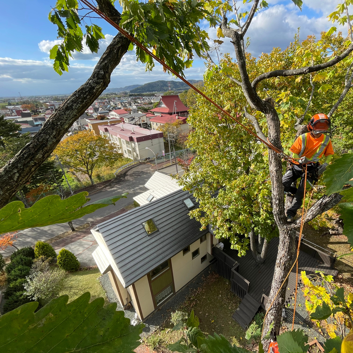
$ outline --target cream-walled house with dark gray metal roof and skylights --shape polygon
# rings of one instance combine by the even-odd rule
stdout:
[[[93,257],[108,273],[120,304],[131,303],[141,320],[208,265],[218,240],[190,218],[198,204],[177,190],[97,225]]]

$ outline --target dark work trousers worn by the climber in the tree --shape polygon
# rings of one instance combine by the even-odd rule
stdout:
[[[310,181],[313,184],[313,175],[316,175],[316,169],[320,165],[320,163],[309,164],[307,166],[307,175],[306,180]],[[298,188],[292,186],[294,181],[298,180],[299,185]],[[282,177],[282,184],[286,192],[292,193],[294,196],[291,207],[287,210],[287,216],[295,216],[297,214],[297,210],[301,207],[301,203],[304,197],[304,180],[305,180],[305,172],[299,166],[294,165],[292,169],[289,169]]]

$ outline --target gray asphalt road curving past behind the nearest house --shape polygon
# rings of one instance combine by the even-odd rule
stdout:
[[[178,170],[181,170],[181,167],[178,166]],[[79,226],[86,222],[92,222],[101,217],[107,216],[114,213],[122,207],[125,207],[133,202],[133,197],[139,195],[140,193],[147,191],[144,184],[152,176],[155,170],[151,170],[150,164],[137,164],[120,174],[120,177],[114,179],[106,187],[103,187],[101,190],[98,190],[95,193],[89,195],[91,201],[100,200],[102,198],[110,197],[113,195],[121,195],[124,192],[128,192],[129,195],[127,198],[120,199],[115,206],[109,205],[107,207],[100,208],[93,213],[85,215],[79,219],[73,220],[73,226]],[[170,166],[160,170],[164,174],[175,174],[175,165]],[[69,231],[70,227],[67,223],[60,223],[46,227],[37,227],[29,228],[17,233],[16,246],[18,248],[24,246],[32,246],[38,240],[47,240],[55,237],[60,233]],[[6,257],[11,255],[11,253],[16,250],[14,247],[9,246],[5,250],[1,250],[1,254]]]

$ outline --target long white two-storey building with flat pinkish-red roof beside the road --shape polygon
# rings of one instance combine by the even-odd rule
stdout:
[[[117,144],[125,157],[134,161],[153,158],[152,151],[156,156],[162,156],[164,150],[163,132],[144,129],[132,124],[110,125],[109,120],[108,124],[98,126],[100,134]]]

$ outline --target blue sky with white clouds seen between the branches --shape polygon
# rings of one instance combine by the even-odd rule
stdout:
[[[239,1],[242,3],[243,1]],[[254,55],[268,52],[272,47],[286,48],[300,27],[301,37],[319,35],[331,24],[326,16],[334,11],[337,0],[304,0],[300,12],[291,0],[268,0],[269,8],[258,12],[248,34],[251,38],[249,51]],[[51,67],[48,51],[55,44],[56,29],[48,20],[52,0],[4,1],[1,7],[0,31],[0,96],[45,95],[70,93],[89,78],[98,55],[77,53],[71,61],[68,73],[56,74]],[[99,56],[116,34],[116,30],[101,19],[92,19],[100,25],[106,40],[101,43]],[[215,39],[215,29],[208,29],[210,38]],[[234,54],[232,44],[226,39],[223,53]],[[189,79],[202,79],[203,60],[194,60],[193,67],[185,72]],[[163,73],[160,66],[150,73],[144,65],[136,62],[133,52],[125,54],[121,64],[112,74],[109,87],[143,84],[158,79],[173,79]]]

